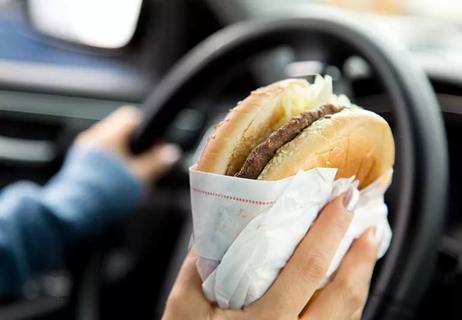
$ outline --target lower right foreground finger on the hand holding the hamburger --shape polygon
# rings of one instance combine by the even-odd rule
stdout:
[[[374,230],[368,229],[353,243],[332,282],[310,302],[301,319],[360,319],[377,252]]]

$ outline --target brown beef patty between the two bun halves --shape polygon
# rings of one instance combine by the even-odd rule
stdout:
[[[234,176],[257,179],[279,148],[287,142],[292,141],[316,120],[329,114],[337,113],[342,109],[342,107],[326,104],[315,110],[303,112],[299,116],[293,117],[285,125],[274,131],[265,141],[253,148],[242,165],[241,170]]]

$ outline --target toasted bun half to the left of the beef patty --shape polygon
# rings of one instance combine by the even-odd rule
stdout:
[[[307,86],[305,80],[287,79],[253,91],[217,125],[197,170],[234,175],[250,151],[290,118],[284,94],[291,87]]]

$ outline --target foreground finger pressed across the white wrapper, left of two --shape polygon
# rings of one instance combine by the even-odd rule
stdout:
[[[259,303],[298,316],[319,287],[352,215],[349,195],[336,198],[321,211],[293,256]],[[344,204],[345,202],[345,204]]]

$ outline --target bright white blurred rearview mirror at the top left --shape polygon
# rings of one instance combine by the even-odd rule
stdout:
[[[31,24],[39,32],[104,49],[132,39],[143,0],[29,0]]]

